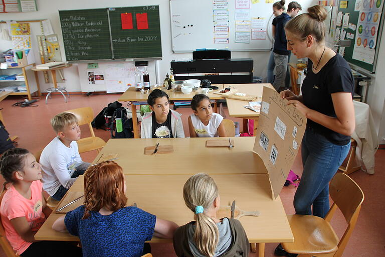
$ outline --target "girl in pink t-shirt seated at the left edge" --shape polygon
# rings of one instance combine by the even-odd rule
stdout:
[[[35,157],[26,149],[10,149],[0,158],[0,171],[6,180],[0,197],[1,221],[16,253],[23,257],[81,256],[82,250],[75,245],[34,238],[51,213],[42,195],[42,169]]]

